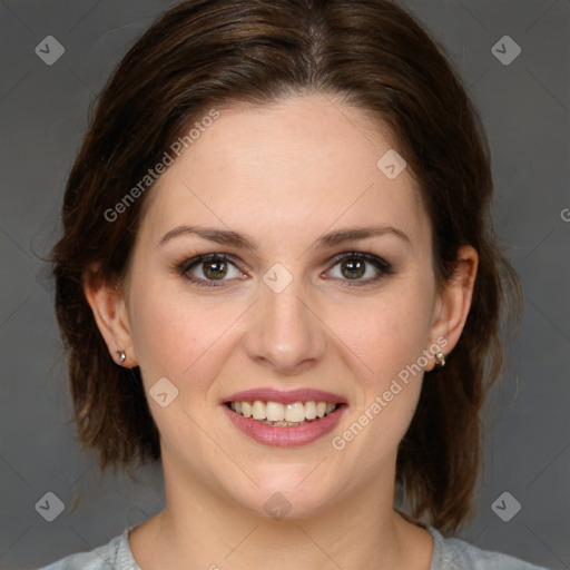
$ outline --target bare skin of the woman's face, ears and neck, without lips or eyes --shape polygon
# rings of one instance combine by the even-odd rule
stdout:
[[[268,560],[275,569],[429,569],[431,534],[393,510],[397,445],[422,374],[344,449],[331,444],[438,338],[451,352],[471,304],[476,253],[460,248],[455,275],[438,286],[416,183],[407,168],[389,179],[376,167],[391,138],[364,111],[318,95],[222,109],[148,196],[122,286],[86,281],[111,356],[125,351],[122,365],[140,366],[147,391],[164,376],[179,391],[166,407],[149,399],[166,509],[130,534],[144,570],[261,569]],[[232,229],[258,248],[189,234],[159,245],[183,225]],[[406,237],[315,246],[323,234],[362,226]],[[367,262],[357,279],[380,279],[351,286],[335,264],[347,252],[371,253],[392,271]],[[219,287],[177,271],[208,253],[235,262]],[[263,281],[275,263],[293,276],[278,294]],[[203,268],[191,274],[206,279]],[[433,366],[430,357],[425,370]],[[348,409],[316,442],[264,445],[220,409],[224,397],[264,386],[325,390]],[[264,510],[275,492],[291,504],[278,521]]]

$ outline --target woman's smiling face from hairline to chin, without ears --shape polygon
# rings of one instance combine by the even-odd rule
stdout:
[[[125,306],[167,481],[269,514],[392,497],[423,370],[454,342],[392,148],[324,97],[233,107],[150,190]]]

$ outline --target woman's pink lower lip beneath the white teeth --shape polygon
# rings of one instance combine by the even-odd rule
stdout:
[[[244,417],[225,404],[223,404],[222,407],[239,431],[249,435],[249,438],[258,443],[275,445],[277,448],[298,448],[313,443],[331,432],[341,420],[341,416],[346,410],[346,404],[338,405],[331,415],[325,415],[320,420],[313,420],[302,425],[289,426],[267,425],[252,420],[250,417]]]

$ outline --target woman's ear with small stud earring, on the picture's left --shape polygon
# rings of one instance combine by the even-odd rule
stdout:
[[[88,271],[83,275],[83,293],[111,358],[121,366],[129,368],[137,366],[121,288],[116,284],[107,283],[97,271]],[[120,352],[126,355],[122,363],[119,361]]]

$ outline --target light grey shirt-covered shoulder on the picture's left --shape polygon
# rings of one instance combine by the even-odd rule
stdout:
[[[129,549],[129,530],[90,552],[71,554],[40,570],[140,570]]]

